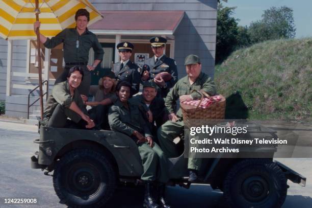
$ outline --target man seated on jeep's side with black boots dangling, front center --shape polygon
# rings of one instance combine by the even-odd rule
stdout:
[[[118,84],[119,99],[109,109],[111,129],[127,134],[137,143],[143,165],[141,179],[146,183],[144,207],[159,207],[151,194],[153,181],[161,183],[160,203],[164,207],[169,207],[164,199],[165,184],[169,180],[167,158],[161,148],[154,144],[149,128],[144,125],[145,122],[138,106],[128,102],[130,91],[131,84],[128,82],[123,81]],[[159,171],[157,170],[158,164]]]

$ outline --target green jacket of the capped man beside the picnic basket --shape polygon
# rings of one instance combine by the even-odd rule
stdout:
[[[205,73],[201,72],[192,85],[190,84],[189,77],[185,76],[177,81],[177,83],[172,87],[166,97],[165,105],[167,113],[170,114],[175,112],[176,101],[178,100],[178,98],[183,95],[190,95],[193,89],[196,89],[197,91],[203,89],[210,96],[214,96],[216,94],[215,83]],[[201,98],[201,95],[196,92],[193,92],[191,96],[194,100]],[[179,109],[176,115],[177,117],[181,118],[182,110]]]

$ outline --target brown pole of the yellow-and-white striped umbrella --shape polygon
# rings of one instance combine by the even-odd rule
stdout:
[[[39,1],[36,0],[36,21],[39,21]],[[37,34],[37,53],[38,53],[38,73],[39,73],[39,95],[40,95],[40,115],[43,120],[43,96],[42,96],[42,69],[41,69],[41,53],[40,53],[40,32],[39,27],[36,31]]]

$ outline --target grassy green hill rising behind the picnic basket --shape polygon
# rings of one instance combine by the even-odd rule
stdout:
[[[235,91],[249,119],[310,120],[312,38],[275,40],[233,52],[216,66],[218,93]]]

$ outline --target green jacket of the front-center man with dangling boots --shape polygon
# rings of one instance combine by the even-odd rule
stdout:
[[[119,131],[131,136],[134,131],[138,131],[146,136],[151,136],[146,121],[144,121],[141,111],[137,105],[128,102],[129,110],[120,102],[112,105],[109,109],[109,124],[112,130]]]

